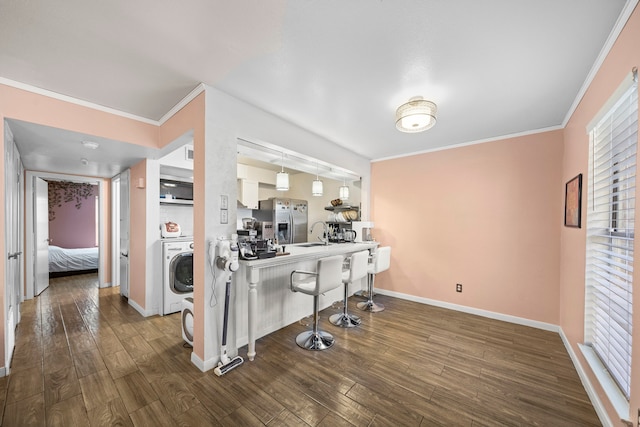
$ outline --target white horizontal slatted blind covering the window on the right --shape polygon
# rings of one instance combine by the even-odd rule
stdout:
[[[637,76],[589,129],[585,338],[629,399],[636,150]],[[594,123],[595,122],[595,123]]]

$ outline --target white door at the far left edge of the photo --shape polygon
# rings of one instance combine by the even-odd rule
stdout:
[[[11,358],[15,347],[15,330],[20,321],[22,250],[20,240],[22,204],[20,203],[20,177],[22,162],[13,142],[13,137],[5,128],[5,247],[7,260],[5,268],[5,362],[9,374]]]

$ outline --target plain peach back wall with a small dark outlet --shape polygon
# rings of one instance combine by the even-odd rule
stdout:
[[[376,287],[557,324],[561,162],[561,131],[374,162]]]

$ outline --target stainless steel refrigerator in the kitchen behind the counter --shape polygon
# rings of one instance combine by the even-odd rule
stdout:
[[[254,211],[258,221],[272,221],[276,242],[304,243],[307,241],[307,201],[286,198],[260,200],[258,211]]]

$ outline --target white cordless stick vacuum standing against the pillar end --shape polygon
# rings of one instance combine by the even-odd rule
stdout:
[[[219,256],[216,260],[218,267],[229,273],[225,285],[224,293],[224,318],[222,320],[222,346],[220,349],[220,362],[213,369],[217,376],[222,376],[232,369],[244,363],[240,356],[229,358],[227,354],[227,329],[229,327],[229,298],[231,296],[231,276],[239,267],[238,264],[238,236],[233,235],[231,241],[221,240],[218,242]]]

